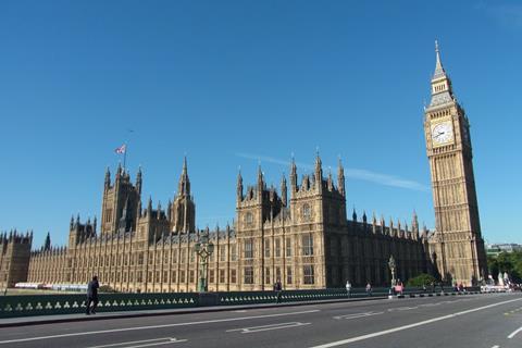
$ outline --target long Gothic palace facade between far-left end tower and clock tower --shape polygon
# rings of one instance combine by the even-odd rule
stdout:
[[[28,282],[83,284],[97,274],[120,291],[194,291],[200,269],[194,245],[203,234],[215,246],[210,290],[271,289],[277,278],[287,289],[340,287],[347,279],[384,285],[390,254],[401,278],[431,272],[427,231],[420,235],[417,216],[411,229],[400,222],[386,226],[375,216],[369,222],[365,214],[358,221],[355,212],[346,219],[340,162],[336,184],[332,175],[323,177],[319,156],[314,172],[300,183],[294,163],[289,187],[283,177],[279,192],[266,187],[261,169],[256,185],[246,189],[239,174],[235,224],[215,231],[195,228],[186,161],[178,192],[165,210],[153,209],[150,199],[141,208],[141,177],[139,171],[133,184],[119,167],[111,183],[108,172],[101,233],[96,221],[72,219],[67,248],[32,252]]]

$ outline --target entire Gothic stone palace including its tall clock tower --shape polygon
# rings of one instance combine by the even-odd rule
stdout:
[[[365,214],[347,219],[345,175],[313,173],[300,182],[291,163],[288,182],[268,187],[261,169],[256,184],[239,173],[233,226],[196,229],[196,204],[186,160],[173,202],[141,203],[142,175],[133,183],[121,166],[105,173],[100,231],[97,221],[71,219],[69,246],[32,251],[33,234],[0,235],[0,288],[17,282],[85,284],[97,274],[119,291],[195,291],[201,262],[195,244],[209,238],[209,290],[285,289],[389,285],[389,257],[397,277],[430,273],[446,282],[476,284],[486,276],[472,165],[469,121],[457,102],[436,47],[432,99],[424,133],[431,166],[435,231]]]

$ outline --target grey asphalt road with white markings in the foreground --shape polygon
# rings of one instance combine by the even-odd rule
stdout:
[[[522,347],[522,294],[337,302],[0,328],[12,347]]]

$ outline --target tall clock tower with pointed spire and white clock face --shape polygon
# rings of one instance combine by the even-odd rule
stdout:
[[[470,124],[440,62],[437,41],[435,52],[432,100],[424,111],[435,208],[435,234],[430,250],[443,279],[472,285],[486,277],[487,266],[476,202]]]

